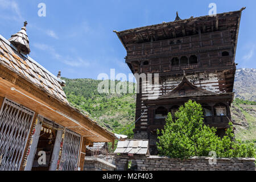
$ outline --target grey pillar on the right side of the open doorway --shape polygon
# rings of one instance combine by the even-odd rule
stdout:
[[[57,169],[62,134],[63,134],[63,130],[57,131],[56,139],[55,139],[55,143],[54,143],[54,147],[53,147],[53,151],[52,151],[52,159],[51,159],[51,164],[49,166],[49,171],[56,171],[56,169]]]

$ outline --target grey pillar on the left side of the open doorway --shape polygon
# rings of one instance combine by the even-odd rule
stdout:
[[[28,154],[28,156],[27,156],[27,165],[24,168],[24,171],[31,171],[32,166],[33,166],[33,162],[34,162],[34,158],[35,158],[35,155],[36,155],[36,148],[38,146],[38,140],[39,140],[39,137],[40,137],[41,127],[42,127],[42,121],[40,121],[38,119],[38,117],[36,119],[38,121],[37,121],[36,126],[35,126],[35,131],[33,131],[34,132],[34,135],[33,135],[33,138],[32,138],[33,142],[30,146],[30,154]]]

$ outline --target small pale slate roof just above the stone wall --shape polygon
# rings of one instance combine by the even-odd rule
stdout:
[[[114,153],[119,154],[149,154],[148,151],[148,140],[125,140],[118,141],[117,148]]]

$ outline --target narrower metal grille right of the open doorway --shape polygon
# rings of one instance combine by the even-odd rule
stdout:
[[[76,171],[81,136],[71,130],[65,130],[65,139],[60,159],[59,171]]]

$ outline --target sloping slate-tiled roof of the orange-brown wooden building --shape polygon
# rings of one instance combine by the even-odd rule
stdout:
[[[53,97],[59,98],[59,100],[68,104],[67,97],[61,87],[65,82],[52,75],[31,57],[24,53],[18,53],[16,47],[1,35],[0,64],[39,86]]]

